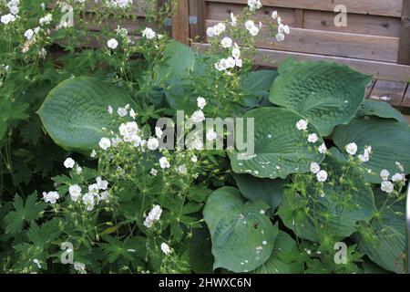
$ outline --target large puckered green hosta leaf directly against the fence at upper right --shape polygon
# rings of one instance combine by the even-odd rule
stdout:
[[[369,76],[336,63],[288,60],[279,68],[270,99],[301,113],[326,136],[354,118],[370,81]]]

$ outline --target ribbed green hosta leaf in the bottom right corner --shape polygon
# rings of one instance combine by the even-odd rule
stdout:
[[[354,240],[359,244],[360,251],[374,263],[402,274],[405,272],[405,201],[387,208],[394,202],[389,200],[384,205],[385,193],[377,190],[374,197],[379,216],[371,221],[370,226],[364,226],[361,232],[355,234]]]

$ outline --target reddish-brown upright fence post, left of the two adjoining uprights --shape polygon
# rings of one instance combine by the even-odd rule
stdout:
[[[172,16],[172,37],[180,43],[190,45],[190,9],[188,0],[179,0]]]

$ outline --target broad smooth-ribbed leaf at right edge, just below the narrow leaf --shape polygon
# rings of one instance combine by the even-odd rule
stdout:
[[[334,130],[333,141],[344,151],[345,145],[355,142],[359,151],[365,146],[372,146],[372,155],[364,166],[372,173],[366,173],[369,183],[381,183],[379,173],[386,169],[390,173],[401,172],[395,162],[410,173],[410,126],[396,120],[384,120],[376,117],[352,120],[347,126],[338,126]]]

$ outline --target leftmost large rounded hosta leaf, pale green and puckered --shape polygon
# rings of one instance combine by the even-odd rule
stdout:
[[[87,152],[97,147],[110,129],[114,109],[134,104],[122,90],[97,78],[69,78],[48,94],[38,110],[43,125],[57,145],[67,151]]]

